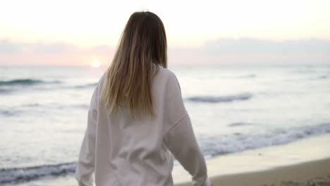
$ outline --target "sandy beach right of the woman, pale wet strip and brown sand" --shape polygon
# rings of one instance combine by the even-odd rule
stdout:
[[[306,185],[313,179],[330,185],[330,134],[289,144],[252,149],[207,159],[213,186]],[[182,166],[174,168],[176,186],[191,185]]]

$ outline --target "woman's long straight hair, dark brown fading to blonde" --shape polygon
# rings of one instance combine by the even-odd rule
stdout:
[[[167,68],[164,25],[152,12],[135,12],[106,71],[102,99],[109,113],[125,105],[131,116],[154,116],[151,86],[159,66]]]

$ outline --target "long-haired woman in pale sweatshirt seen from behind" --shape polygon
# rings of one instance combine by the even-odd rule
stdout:
[[[75,171],[80,185],[92,185],[94,171],[97,186],[173,185],[171,153],[193,185],[210,185],[166,50],[159,17],[133,13],[92,95]]]

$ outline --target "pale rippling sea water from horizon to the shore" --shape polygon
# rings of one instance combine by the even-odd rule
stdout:
[[[330,66],[170,69],[206,158],[330,133]],[[0,68],[0,185],[73,174],[105,70]]]

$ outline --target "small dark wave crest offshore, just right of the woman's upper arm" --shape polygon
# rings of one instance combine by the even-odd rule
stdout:
[[[231,102],[231,101],[244,101],[250,99],[252,94],[242,93],[235,95],[228,95],[222,97],[212,97],[212,96],[202,96],[202,97],[189,97],[189,101],[193,102],[205,102],[205,103],[221,103],[221,102]]]

